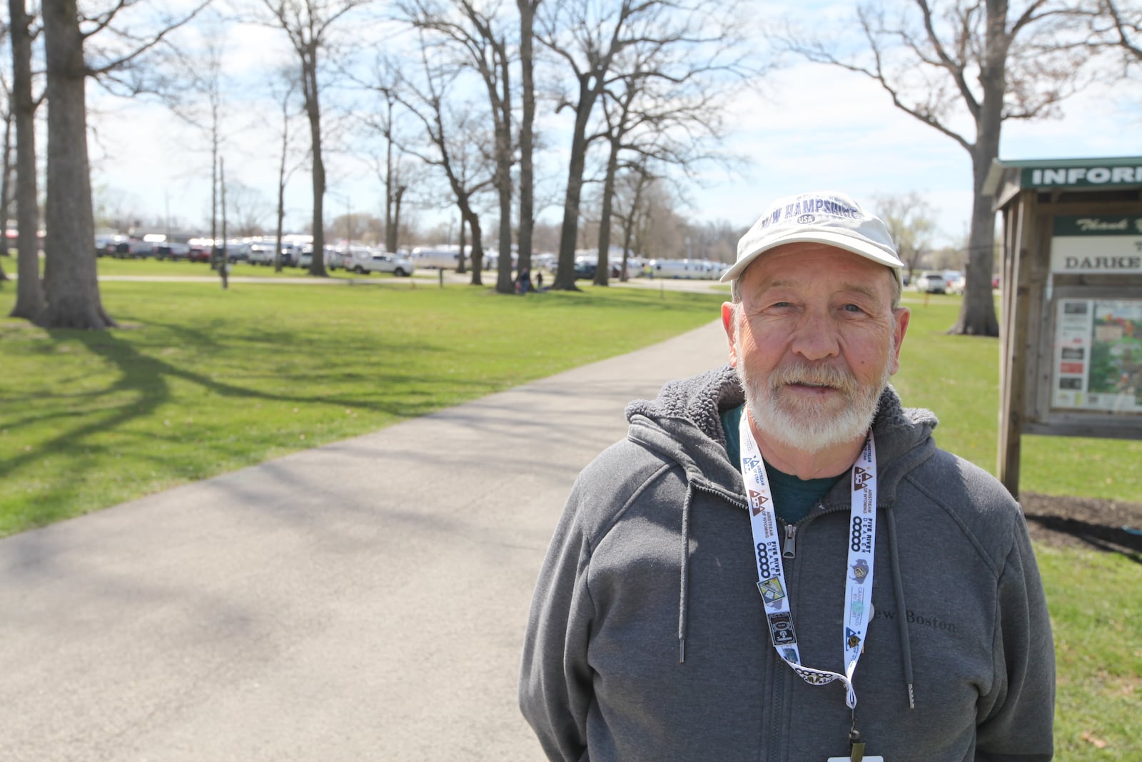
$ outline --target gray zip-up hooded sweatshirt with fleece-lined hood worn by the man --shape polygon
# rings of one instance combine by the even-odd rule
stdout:
[[[673,382],[627,408],[627,439],[576,481],[520,680],[552,760],[849,754],[842,683],[804,682],[770,643],[745,487],[718,418],[741,403],[729,367]],[[866,754],[1049,760],[1054,651],[1027,526],[1002,484],[936,448],[935,425],[891,388],[872,425],[878,573],[853,677]],[[785,548],[802,659],[833,672],[844,672],[849,504],[842,479]]]

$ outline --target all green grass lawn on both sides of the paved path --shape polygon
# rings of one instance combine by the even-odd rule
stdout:
[[[99,268],[210,273],[108,259]],[[0,318],[0,536],[626,352],[716,319],[724,298],[717,288],[587,286],[510,298],[373,279],[225,291],[104,282],[123,324],[106,332]],[[904,298],[912,322],[893,383],[906,404],[936,412],[942,447],[994,473],[998,342],[943,334],[957,297]],[[11,284],[0,288],[0,314],[13,299]],[[1140,463],[1136,441],[1028,436],[1021,488],[1139,500]],[[1059,655],[1056,759],[1142,759],[1142,559],[1047,547],[1039,556]]]

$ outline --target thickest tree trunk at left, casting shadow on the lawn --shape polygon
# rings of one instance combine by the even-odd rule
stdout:
[[[87,155],[83,37],[75,0],[43,6],[48,72],[47,238],[43,242],[46,328],[115,327],[99,299],[91,173]]]

